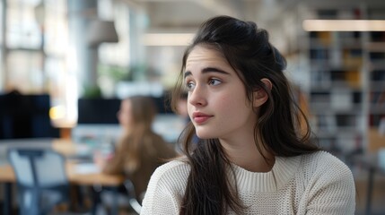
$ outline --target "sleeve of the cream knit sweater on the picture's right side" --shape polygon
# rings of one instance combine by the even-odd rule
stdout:
[[[322,168],[318,167],[308,186],[305,214],[354,214],[355,187],[350,169],[331,155],[317,161]]]

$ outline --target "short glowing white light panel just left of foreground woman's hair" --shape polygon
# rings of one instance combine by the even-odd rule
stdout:
[[[144,46],[188,46],[193,33],[146,33]]]

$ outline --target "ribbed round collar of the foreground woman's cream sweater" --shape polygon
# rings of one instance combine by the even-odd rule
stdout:
[[[269,193],[276,192],[286,185],[299,168],[301,156],[276,157],[276,162],[269,172],[250,172],[232,164],[240,192]]]

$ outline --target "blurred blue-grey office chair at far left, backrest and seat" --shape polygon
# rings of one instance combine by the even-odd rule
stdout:
[[[21,215],[44,215],[69,202],[65,159],[53,150],[11,148],[7,151],[16,176]]]

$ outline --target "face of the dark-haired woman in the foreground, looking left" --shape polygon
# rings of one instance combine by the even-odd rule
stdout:
[[[243,82],[217,51],[194,47],[186,61],[188,116],[202,139],[253,133],[257,116]]]

